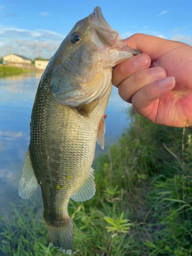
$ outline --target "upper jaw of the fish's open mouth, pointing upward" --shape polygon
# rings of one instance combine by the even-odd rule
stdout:
[[[95,7],[93,13],[89,15],[89,19],[92,29],[95,30],[105,46],[114,47],[117,39],[122,39],[119,33],[106,22],[99,6]]]

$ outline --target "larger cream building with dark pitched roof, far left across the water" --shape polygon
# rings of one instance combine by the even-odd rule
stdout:
[[[13,66],[25,66],[25,65],[31,65],[32,60],[28,59],[22,55],[18,54],[8,54],[3,57],[3,60],[7,62],[8,65]]]

